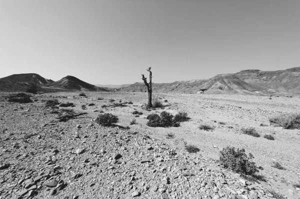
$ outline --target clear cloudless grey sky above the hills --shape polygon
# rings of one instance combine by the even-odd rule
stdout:
[[[0,0],[0,77],[91,84],[300,66],[300,0]]]

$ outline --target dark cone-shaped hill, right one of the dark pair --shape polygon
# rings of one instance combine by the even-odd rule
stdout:
[[[111,91],[109,88],[97,87],[86,83],[76,77],[66,76],[62,79],[45,85],[49,88],[60,88],[67,90],[82,90],[82,91]]]

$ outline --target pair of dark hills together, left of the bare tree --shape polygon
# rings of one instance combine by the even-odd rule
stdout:
[[[25,91],[32,84],[42,91],[112,91],[110,88],[97,87],[73,76],[53,81],[35,73],[0,78],[0,91]]]

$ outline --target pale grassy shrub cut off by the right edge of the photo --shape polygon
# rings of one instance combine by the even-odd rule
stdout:
[[[300,129],[300,113],[283,113],[269,118],[284,129]]]

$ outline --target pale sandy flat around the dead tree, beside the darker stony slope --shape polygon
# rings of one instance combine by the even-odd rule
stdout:
[[[300,98],[269,96],[245,96],[245,95],[206,95],[206,94],[174,94],[159,93],[163,103],[163,109],[147,111],[144,103],[147,101],[147,93],[121,93],[121,92],[85,92],[87,98],[79,97],[78,93],[61,92],[39,94],[41,98],[49,99],[60,96],[59,102],[72,102],[76,105],[73,109],[77,112],[88,112],[93,118],[99,114],[95,110],[103,110],[104,113],[112,113],[119,118],[118,125],[130,126],[131,130],[144,133],[163,142],[183,149],[184,142],[192,144],[200,149],[199,156],[218,159],[219,151],[227,146],[243,148],[246,153],[254,156],[253,161],[263,168],[263,175],[271,187],[280,189],[285,195],[299,195],[292,185],[300,182],[300,130],[286,130],[281,127],[271,126],[268,118],[278,113],[300,112]],[[155,93],[156,95],[156,93]],[[38,96],[38,95],[37,95]],[[63,97],[64,96],[64,97]],[[104,98],[97,100],[98,97]],[[115,102],[132,101],[128,107],[101,108]],[[87,106],[94,103],[95,106]],[[87,110],[82,110],[81,105],[86,105]],[[134,110],[141,111],[140,117],[134,117]],[[179,111],[186,112],[190,120],[180,124],[180,127],[152,128],[146,126],[147,115],[159,114],[167,111],[176,114]],[[132,119],[136,119],[135,125],[129,125]],[[225,124],[219,124],[223,122]],[[199,125],[209,124],[214,126],[212,131],[199,130]],[[260,126],[263,124],[263,126]],[[242,128],[253,127],[260,137],[252,137],[241,133]],[[173,139],[167,139],[166,135],[172,133]],[[263,138],[268,134],[275,137],[274,141]],[[278,170],[271,167],[272,162],[277,161],[286,170]],[[300,196],[300,195],[299,195]]]

